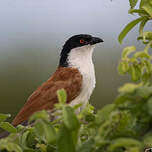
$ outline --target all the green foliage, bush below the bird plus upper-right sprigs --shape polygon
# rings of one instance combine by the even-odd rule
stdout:
[[[152,19],[152,1],[129,0],[130,14],[140,17],[129,23],[119,35],[122,42],[137,24],[138,40],[143,51],[135,46],[124,48],[118,66],[120,74],[131,75],[134,83],[119,88],[113,104],[94,112],[87,105],[66,104],[65,91],[59,90],[59,103],[52,112],[39,111],[31,116],[28,126],[14,128],[6,122],[10,115],[0,114],[0,127],[10,135],[0,140],[1,151],[14,152],[142,152],[152,147],[152,32],[144,26]],[[50,119],[52,120],[50,122]]]

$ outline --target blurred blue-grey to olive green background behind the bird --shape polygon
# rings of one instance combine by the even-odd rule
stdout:
[[[117,64],[123,47],[138,45],[137,28],[124,43],[118,34],[132,19],[128,0],[1,0],[0,112],[12,117],[28,96],[55,71],[65,40],[88,33],[104,39],[94,52],[97,84],[90,102],[111,103],[127,77]]]

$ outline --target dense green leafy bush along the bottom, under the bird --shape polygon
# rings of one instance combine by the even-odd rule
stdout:
[[[58,91],[54,112],[32,115],[28,126],[19,125],[0,140],[3,152],[141,152],[152,146],[152,87],[125,84],[113,104],[94,113],[87,105],[70,107],[64,90]],[[0,118],[3,119],[0,115]],[[54,119],[50,122],[50,118]]]

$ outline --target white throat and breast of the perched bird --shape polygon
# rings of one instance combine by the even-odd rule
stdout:
[[[73,104],[87,103],[95,88],[95,71],[92,53],[95,46],[87,45],[72,49],[68,55],[69,67],[77,68],[82,74],[82,88],[80,95],[72,101]]]

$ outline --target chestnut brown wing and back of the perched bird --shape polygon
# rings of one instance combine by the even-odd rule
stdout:
[[[27,100],[12,124],[17,126],[28,120],[36,111],[51,110],[58,102],[57,90],[64,88],[67,102],[71,102],[81,91],[82,75],[76,68],[59,67]]]

